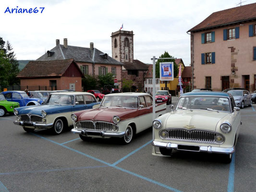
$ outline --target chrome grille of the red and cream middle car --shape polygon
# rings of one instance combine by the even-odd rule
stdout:
[[[81,129],[112,131],[112,123],[103,121],[80,121]]]

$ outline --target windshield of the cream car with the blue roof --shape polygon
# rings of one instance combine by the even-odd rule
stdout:
[[[230,112],[230,102],[226,97],[216,96],[187,96],[181,97],[175,110],[199,109]]]

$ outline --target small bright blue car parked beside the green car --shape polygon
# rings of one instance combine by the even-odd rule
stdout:
[[[24,91],[4,91],[2,92],[7,101],[14,101],[20,104],[20,107],[41,105],[43,100],[30,98]]]

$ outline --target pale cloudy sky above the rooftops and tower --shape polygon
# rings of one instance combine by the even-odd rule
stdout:
[[[134,32],[134,59],[152,63],[168,51],[190,64],[190,35],[186,32],[212,12],[229,9],[241,0],[0,0],[0,37],[9,41],[17,60],[36,60],[55,47],[94,47],[111,53],[111,33]],[[242,5],[256,0],[242,0]],[[14,8],[37,13],[9,13]],[[41,13],[42,11],[42,13]]]

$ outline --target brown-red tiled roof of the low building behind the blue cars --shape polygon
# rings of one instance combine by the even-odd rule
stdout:
[[[74,62],[73,59],[53,60],[53,61],[30,61],[24,67],[24,69],[21,72],[19,72],[17,77],[21,78],[21,77],[62,76],[64,74],[64,72],[66,72],[66,70],[68,69],[68,67],[71,65],[72,62]]]

